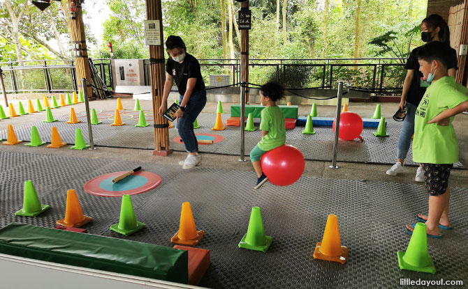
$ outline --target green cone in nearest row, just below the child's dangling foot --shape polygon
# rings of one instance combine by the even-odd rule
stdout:
[[[260,208],[252,208],[249,228],[247,228],[247,233],[242,237],[239,248],[266,252],[272,240],[272,237],[265,235]]]

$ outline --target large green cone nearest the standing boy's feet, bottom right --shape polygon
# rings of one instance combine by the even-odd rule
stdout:
[[[427,253],[426,225],[416,223],[407,251],[397,251],[400,269],[435,274],[434,262]]]

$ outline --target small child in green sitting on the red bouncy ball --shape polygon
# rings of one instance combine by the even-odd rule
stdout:
[[[284,126],[284,115],[281,109],[276,105],[277,100],[284,98],[284,89],[281,84],[275,81],[263,84],[260,88],[260,101],[265,109],[261,112],[260,129],[262,130],[262,139],[250,152],[250,160],[257,173],[258,189],[268,178],[262,172],[260,159],[261,156],[286,142],[286,127]]]

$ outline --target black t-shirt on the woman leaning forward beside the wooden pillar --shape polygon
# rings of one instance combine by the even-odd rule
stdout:
[[[198,60],[191,56],[191,54],[186,53],[182,63],[178,63],[173,61],[172,58],[168,58],[166,72],[174,77],[175,84],[177,85],[177,88],[179,88],[179,93],[181,95],[184,95],[185,91],[187,91],[187,81],[189,78],[196,78],[193,93],[205,88],[205,83],[203,82],[203,77],[200,72],[200,63],[198,63]]]

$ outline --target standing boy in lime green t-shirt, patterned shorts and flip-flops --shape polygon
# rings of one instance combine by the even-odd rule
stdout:
[[[414,119],[413,161],[423,164],[425,188],[429,193],[428,214],[416,219],[425,222],[427,237],[440,238],[439,228],[450,228],[448,219],[448,177],[458,162],[458,141],[452,121],[456,114],[468,109],[467,88],[448,77],[447,63],[450,47],[434,41],[418,52],[419,70],[430,83]],[[410,235],[413,225],[405,231]]]

